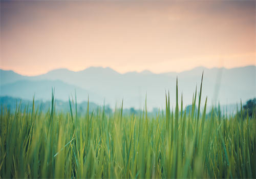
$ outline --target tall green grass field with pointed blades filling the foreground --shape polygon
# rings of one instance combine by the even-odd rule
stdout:
[[[183,112],[176,88],[176,108],[148,117],[111,115],[103,110],[56,114],[54,95],[47,113],[40,109],[15,112],[1,108],[1,178],[255,178],[255,115],[221,116],[207,99],[200,113],[201,92]],[[88,103],[89,104],[89,103]],[[75,116],[74,116],[75,114]]]

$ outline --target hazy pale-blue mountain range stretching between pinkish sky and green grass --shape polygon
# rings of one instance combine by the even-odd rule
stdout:
[[[208,105],[220,103],[235,104],[256,96],[256,66],[240,68],[207,69],[202,66],[181,73],[169,72],[154,74],[150,71],[120,74],[111,68],[91,67],[73,72],[57,69],[38,76],[23,76],[13,71],[0,70],[1,96],[11,96],[31,100],[50,100],[51,88],[55,97],[68,101],[70,95],[77,101],[90,101],[102,105],[103,101],[112,108],[143,108],[145,97],[147,107],[164,107],[165,91],[170,93],[171,103],[175,103],[176,78],[178,77],[179,97],[183,94],[184,105],[191,103],[196,86],[200,88],[202,72],[202,101],[208,97]],[[180,99],[179,99],[180,101]]]

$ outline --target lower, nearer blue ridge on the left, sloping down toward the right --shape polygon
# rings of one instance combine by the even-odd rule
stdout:
[[[29,81],[29,80],[19,80],[14,83],[1,85],[1,96],[12,96],[15,98],[22,98],[31,100],[33,95],[36,99],[40,100],[51,100],[52,88],[54,89],[54,96],[56,99],[68,101],[69,97],[75,99],[76,95],[78,102],[89,100],[95,102],[102,102],[103,99],[100,99],[100,96],[95,95],[92,92],[86,91],[80,87],[66,84],[60,80],[38,80],[38,81]],[[71,96],[72,95],[72,96]]]

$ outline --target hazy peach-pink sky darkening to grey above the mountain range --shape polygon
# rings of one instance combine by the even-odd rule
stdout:
[[[1,1],[1,69],[255,64],[255,1]]]

